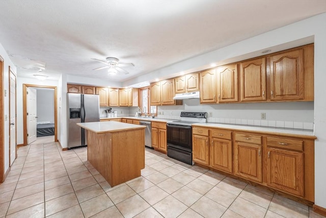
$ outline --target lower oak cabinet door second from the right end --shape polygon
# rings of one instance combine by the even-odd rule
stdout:
[[[255,182],[262,182],[261,145],[234,143],[234,173]]]

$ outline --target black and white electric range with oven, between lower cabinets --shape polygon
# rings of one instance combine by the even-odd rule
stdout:
[[[180,120],[167,122],[168,157],[193,165],[192,124],[206,122],[206,112],[181,112]]]

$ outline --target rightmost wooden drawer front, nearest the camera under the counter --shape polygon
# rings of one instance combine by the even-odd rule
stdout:
[[[267,137],[267,147],[303,151],[304,141],[287,138]]]

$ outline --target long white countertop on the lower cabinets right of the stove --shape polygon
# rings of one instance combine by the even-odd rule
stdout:
[[[277,133],[280,135],[294,135],[294,136],[314,136],[313,130],[300,130],[300,129],[288,129],[288,128],[273,128],[273,127],[258,127],[258,126],[246,126],[246,125],[234,125],[234,124],[219,124],[219,123],[201,123],[193,124],[198,127],[215,127],[230,130],[242,130],[242,131],[255,131],[264,133]]]

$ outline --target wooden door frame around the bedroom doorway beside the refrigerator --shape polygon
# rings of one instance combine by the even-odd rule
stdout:
[[[22,115],[23,115],[23,146],[27,145],[27,88],[51,88],[55,90],[55,142],[58,141],[58,109],[57,109],[57,86],[42,86],[33,84],[22,84]]]

